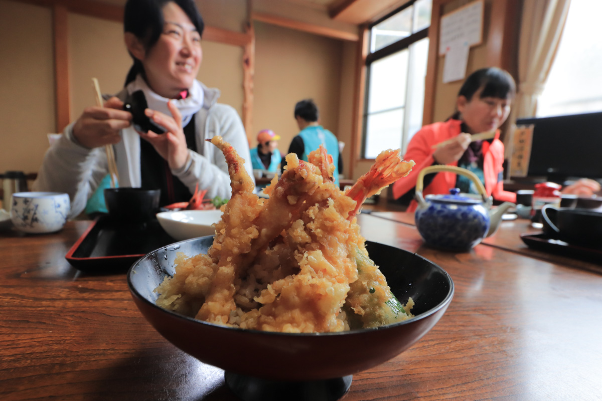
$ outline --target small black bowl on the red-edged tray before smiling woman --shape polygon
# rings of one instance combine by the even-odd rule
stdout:
[[[160,189],[107,188],[104,194],[111,219],[119,223],[147,222],[159,210]]]

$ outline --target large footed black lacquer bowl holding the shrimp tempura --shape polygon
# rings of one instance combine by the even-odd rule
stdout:
[[[155,305],[153,290],[174,272],[176,253],[206,253],[213,236],[157,249],[128,272],[135,304],[163,337],[203,363],[226,371],[226,383],[241,399],[337,400],[353,373],[377,366],[426,334],[452,301],[452,278],[439,266],[393,246],[367,242],[368,253],[415,317],[373,329],[338,333],[285,334],[228,328],[181,316]]]

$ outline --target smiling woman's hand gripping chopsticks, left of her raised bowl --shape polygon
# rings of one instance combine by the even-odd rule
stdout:
[[[87,148],[116,144],[121,140],[119,130],[129,127],[132,114],[123,111],[123,102],[117,97],[105,102],[104,107],[88,107],[73,124],[73,136]]]

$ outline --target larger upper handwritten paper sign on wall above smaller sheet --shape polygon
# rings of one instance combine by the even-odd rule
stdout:
[[[483,0],[477,0],[441,17],[440,56],[455,43],[468,43],[469,47],[482,43],[484,7]]]

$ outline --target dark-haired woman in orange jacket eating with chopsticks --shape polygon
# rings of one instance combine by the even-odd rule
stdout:
[[[442,123],[424,126],[409,142],[403,158],[416,165],[407,177],[393,184],[393,197],[413,198],[418,172],[430,165],[447,164],[475,173],[495,200],[515,202],[516,194],[503,189],[504,144],[498,130],[510,113],[515,92],[514,79],[504,70],[492,67],[468,76],[458,93],[455,114]],[[471,135],[493,131],[493,139],[471,142]],[[473,186],[464,176],[441,172],[424,177],[423,194],[447,194],[451,188],[478,193]],[[408,212],[416,206],[412,200]]]

